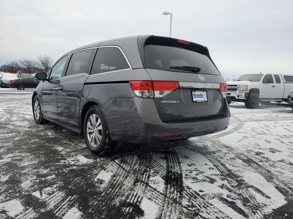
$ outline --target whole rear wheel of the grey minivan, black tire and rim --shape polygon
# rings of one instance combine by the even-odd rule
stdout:
[[[86,146],[93,154],[110,154],[115,151],[117,142],[111,140],[105,115],[99,106],[88,109],[83,129]]]

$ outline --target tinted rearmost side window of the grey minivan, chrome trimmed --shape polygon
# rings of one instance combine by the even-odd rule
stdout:
[[[118,48],[99,48],[93,62],[91,74],[99,74],[128,68],[129,65]]]

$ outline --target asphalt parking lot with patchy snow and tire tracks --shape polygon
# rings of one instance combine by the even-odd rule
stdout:
[[[293,218],[293,111],[231,103],[227,130],[91,154],[0,88],[0,218]]]

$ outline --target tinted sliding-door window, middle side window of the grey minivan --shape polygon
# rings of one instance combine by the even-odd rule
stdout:
[[[73,53],[67,68],[66,76],[86,73],[88,60],[91,57],[92,49]]]

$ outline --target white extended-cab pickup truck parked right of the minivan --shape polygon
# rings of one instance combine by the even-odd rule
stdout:
[[[271,101],[287,102],[293,89],[293,74],[244,74],[235,81],[227,81],[227,101],[244,102],[249,109]]]

